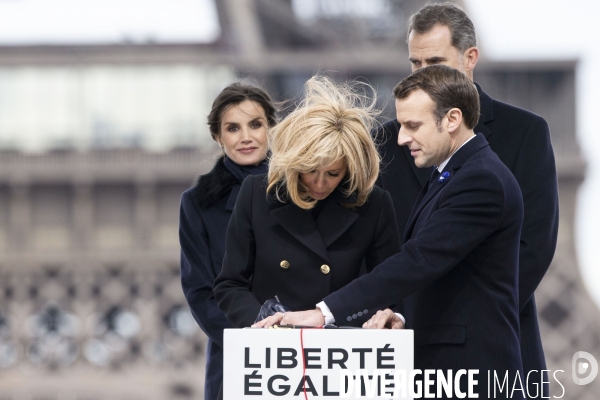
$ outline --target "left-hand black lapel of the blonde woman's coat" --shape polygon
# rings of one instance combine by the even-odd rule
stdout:
[[[323,210],[321,213],[325,211]],[[324,260],[329,261],[327,249],[317,224],[309,211],[303,210],[290,202],[271,209],[270,214],[296,240]]]

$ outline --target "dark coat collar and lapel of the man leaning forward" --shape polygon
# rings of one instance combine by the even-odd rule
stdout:
[[[448,182],[454,177],[454,174],[479,150],[482,148],[489,146],[487,140],[483,137],[482,134],[478,133],[472,140],[466,143],[463,147],[461,147],[444,168],[443,172],[448,172],[449,176],[444,180],[436,179],[431,185],[426,184],[421,193],[419,194],[417,203],[415,203],[413,210],[408,218],[408,224],[406,225],[406,229],[404,231],[404,242],[409,240],[412,236],[412,232],[417,221],[418,216],[423,211],[423,208],[436,196],[436,194],[442,190]],[[431,175],[433,172],[431,169],[427,168]]]

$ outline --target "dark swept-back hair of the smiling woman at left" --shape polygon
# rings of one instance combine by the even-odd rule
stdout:
[[[235,82],[227,86],[219,93],[213,101],[212,109],[208,114],[208,126],[213,140],[217,140],[223,113],[231,106],[240,104],[246,100],[259,104],[265,110],[267,124],[275,126],[277,109],[269,94],[262,88],[242,82]]]

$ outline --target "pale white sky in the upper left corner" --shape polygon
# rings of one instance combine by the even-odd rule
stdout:
[[[0,0],[0,44],[212,42],[213,0]]]

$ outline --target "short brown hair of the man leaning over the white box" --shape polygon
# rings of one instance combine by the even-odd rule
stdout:
[[[431,65],[413,72],[394,88],[394,97],[405,99],[412,92],[422,90],[435,103],[435,121],[441,123],[452,108],[458,108],[468,129],[479,120],[479,93],[465,74],[446,65]]]

